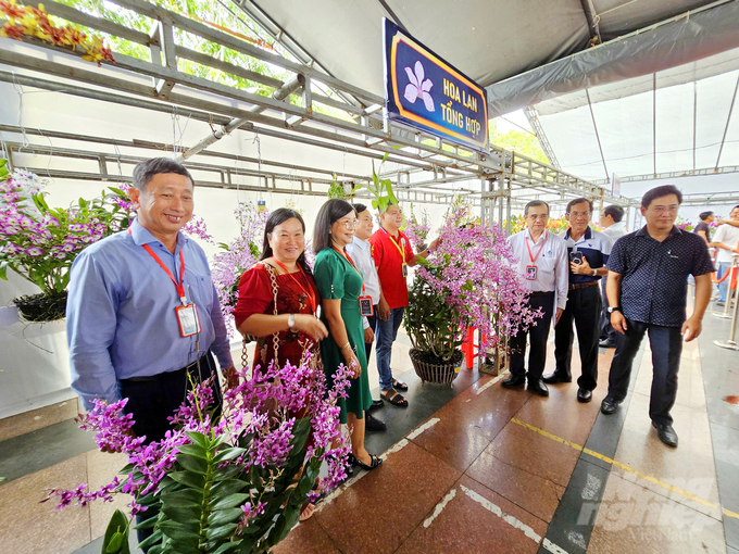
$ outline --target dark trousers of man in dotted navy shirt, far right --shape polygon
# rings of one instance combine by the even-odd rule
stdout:
[[[646,332],[649,332],[653,368],[649,417],[655,424],[672,425],[669,411],[677,396],[677,373],[682,352],[680,327],[662,327],[626,319],[626,335],[616,333],[616,353],[609,374],[609,396],[617,401],[626,398],[634,358]]]

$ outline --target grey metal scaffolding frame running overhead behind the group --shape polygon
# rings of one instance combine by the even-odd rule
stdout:
[[[253,190],[280,193],[325,193],[324,189],[331,182],[330,176],[326,175],[329,172],[326,169],[296,167],[285,162],[262,160],[260,167],[254,171],[250,167],[250,164],[259,162],[254,159],[208,150],[220,138],[236,130],[245,130],[375,160],[387,154],[388,161],[398,164],[398,168],[390,172],[388,176],[396,181],[399,200],[448,203],[455,192],[466,193],[474,205],[480,209],[480,217],[484,222],[494,219],[496,210],[498,211],[497,221],[503,221],[503,212],[505,212],[505,218],[510,219],[512,206],[523,206],[534,198],[541,198],[552,203],[565,203],[572,198],[587,197],[601,207],[603,202],[624,206],[635,203],[631,199],[614,197],[603,187],[514,151],[497,146],[490,146],[485,151],[472,151],[429,134],[411,131],[403,126],[384,121],[381,117],[384,98],[337,79],[316,67],[315,64],[305,65],[287,60],[145,0],[111,1],[121,8],[149,17],[151,33],[145,34],[53,1],[45,2],[45,7],[50,14],[68,22],[146,46],[150,51],[149,61],[114,52],[115,64],[103,62],[103,67],[98,70],[80,64],[78,58],[84,54],[82,51],[72,52],[70,49],[24,37],[24,42],[59,54],[54,61],[50,61],[22,52],[8,51],[2,48],[2,41],[10,39],[0,39],[0,64],[30,72],[30,75],[18,75],[0,71],[0,80],[159,112],[172,113],[173,106],[176,106],[180,115],[217,126],[198,144],[183,148],[179,152],[188,167],[204,172],[210,176],[203,181],[205,186],[236,188],[234,181],[238,176],[256,175],[260,179],[264,178],[264,184],[252,186]],[[251,13],[250,15],[254,16]],[[266,14],[262,15],[267,17]],[[264,22],[258,21],[256,23],[263,25]],[[274,22],[271,25],[275,27]],[[284,83],[195,52],[175,42],[175,28],[223,45],[261,62],[274,64],[291,74],[292,77]],[[276,28],[271,28],[270,33],[275,37],[279,35]],[[285,37],[283,34],[280,38]],[[298,48],[297,45],[293,46]],[[295,54],[295,52],[291,53]],[[305,52],[302,54],[304,55],[298,59],[305,60],[308,54]],[[212,70],[259,83],[271,88],[272,95],[264,97],[184,73],[178,70],[179,59],[190,60]],[[114,67],[115,71],[111,72],[108,66]],[[64,81],[42,79],[37,74],[61,78]],[[151,78],[152,85],[145,85],[141,76]],[[67,80],[73,84],[66,84]],[[103,90],[100,90],[100,87]],[[335,91],[342,100],[317,93],[317,90],[325,91],[326,89]],[[199,91],[209,93],[210,99],[203,98]],[[316,104],[329,108],[337,115],[317,112]],[[17,131],[11,127],[0,126],[0,131]],[[28,130],[26,133],[33,135]],[[53,151],[34,146],[34,150],[41,155],[64,155],[88,162],[97,161],[97,171],[55,171],[53,175],[57,178],[121,180],[125,176],[111,174],[109,164],[118,162],[133,164],[141,159],[137,155],[118,156],[104,152],[102,144],[110,146],[111,141],[108,139],[71,136],[43,129],[39,133],[47,137],[57,136],[85,141],[92,146],[98,144],[92,150],[54,148]],[[170,152],[175,150],[172,146],[148,143],[146,140],[113,142],[131,148]],[[11,158],[14,154],[17,155],[18,146],[9,144],[9,150]],[[212,163],[195,163],[188,160],[195,155],[208,156],[209,162],[212,161]],[[225,163],[218,165],[216,163],[218,159],[223,162],[227,160],[229,164],[240,164],[242,167],[231,168]],[[277,169],[264,171],[261,165],[288,168],[292,169],[292,173],[279,173]],[[40,167],[39,173],[47,172]],[[52,172],[49,172],[49,175],[51,174]],[[368,180],[368,177],[358,175],[345,176],[345,178],[354,181]],[[300,191],[278,186],[285,180],[300,182]],[[473,185],[461,190],[449,187],[450,184],[460,181]],[[247,186],[238,186],[243,190],[251,190]]]

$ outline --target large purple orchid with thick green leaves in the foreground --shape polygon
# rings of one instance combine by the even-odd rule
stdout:
[[[175,414],[177,428],[148,445],[129,435],[130,415],[121,412],[125,400],[97,402],[91,414],[79,417],[80,427],[96,432],[101,450],[125,452],[130,463],[97,491],[80,484],[52,490],[47,500],[59,499],[59,507],[84,506],[123,493],[131,496],[131,515],[156,508],[155,517],[137,526],[153,529],[139,544],[150,554],[267,552],[298,522],[306,499],[346,479],[350,446],[338,425],[337,400],[347,395],[349,374],[339,367],[327,391],[323,369],[313,362],[309,354],[299,367],[271,365],[251,378],[243,369],[240,385],[224,393],[217,421],[209,413],[210,385],[198,385]],[[324,462],[328,474],[316,487]],[[117,511],[102,552],[127,553],[131,526]]]

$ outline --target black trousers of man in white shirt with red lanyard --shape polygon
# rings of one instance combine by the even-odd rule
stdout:
[[[538,379],[547,363],[547,337],[554,313],[554,292],[531,292],[528,297],[528,307],[535,312],[541,309],[543,315],[527,330],[518,331],[511,338],[511,374]],[[528,372],[524,368],[526,336],[529,337]]]

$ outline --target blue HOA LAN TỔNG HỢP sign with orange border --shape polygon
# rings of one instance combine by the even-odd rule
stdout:
[[[488,146],[485,89],[384,18],[386,117],[477,150]]]

